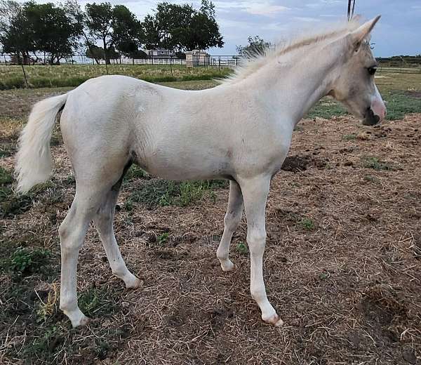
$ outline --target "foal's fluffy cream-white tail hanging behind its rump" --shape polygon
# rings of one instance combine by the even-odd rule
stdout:
[[[67,94],[37,102],[29,114],[28,123],[20,133],[16,154],[15,177],[18,192],[28,192],[36,184],[44,183],[53,170],[50,140],[57,114],[65,106]]]

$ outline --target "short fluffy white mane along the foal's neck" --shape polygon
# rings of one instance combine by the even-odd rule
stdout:
[[[288,41],[281,41],[274,47],[266,48],[262,53],[254,55],[245,55],[242,60],[242,65],[236,67],[234,74],[221,80],[222,84],[234,84],[237,81],[246,79],[250,74],[254,74],[261,67],[267,65],[268,62],[279,58],[281,55],[289,54],[292,51],[302,50],[306,46],[318,44],[326,40],[334,39],[341,36],[346,32],[352,32],[360,25],[359,17],[353,18],[351,21],[334,24],[327,24],[323,27],[322,31],[314,34],[314,32],[302,32],[300,35],[295,36]]]

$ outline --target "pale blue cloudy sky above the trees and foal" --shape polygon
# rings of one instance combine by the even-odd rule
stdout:
[[[93,1],[78,2],[83,6]],[[140,20],[152,13],[159,2],[107,1],[126,5]],[[173,4],[193,4],[196,8],[200,6],[200,0],[166,1]],[[214,0],[216,20],[225,46],[211,48],[208,52],[212,55],[234,55],[237,45],[247,44],[248,36],[259,35],[274,43],[299,33],[300,29],[317,29],[326,22],[345,21],[347,3],[347,0]],[[421,0],[356,0],[355,14],[361,14],[365,20],[382,15],[371,38],[375,56],[421,53]]]

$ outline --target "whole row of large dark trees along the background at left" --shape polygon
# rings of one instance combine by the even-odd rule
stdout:
[[[75,53],[109,63],[121,55],[144,58],[142,49],[154,48],[182,56],[185,51],[223,44],[210,0],[202,0],[199,9],[161,2],[142,21],[126,6],[108,2],[82,9],[76,0],[63,4],[0,0],[0,51],[22,64],[45,60],[55,65]],[[40,53],[44,60],[39,60]]]

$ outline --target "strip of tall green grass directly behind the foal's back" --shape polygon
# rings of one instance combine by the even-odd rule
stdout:
[[[185,65],[109,65],[109,74],[121,74],[149,82],[175,82],[212,80],[226,77],[232,69],[224,67],[186,67]],[[79,86],[92,77],[107,74],[103,65],[60,65],[25,67],[30,88],[57,88]],[[0,90],[25,88],[25,79],[20,66],[0,65]]]

